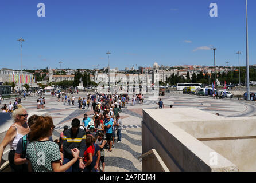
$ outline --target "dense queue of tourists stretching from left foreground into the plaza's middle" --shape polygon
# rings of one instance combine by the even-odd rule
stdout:
[[[33,115],[27,119],[26,109],[18,104],[13,109],[14,123],[0,144],[0,161],[6,146],[10,145],[8,159],[14,172],[105,171],[105,151],[111,152],[115,141],[119,143],[122,139],[119,113],[123,98],[126,102],[127,96],[88,94],[88,98],[93,104],[93,117],[84,114],[82,123],[74,118],[71,128],[64,126],[55,141],[52,117]],[[40,97],[41,101],[44,104]]]

